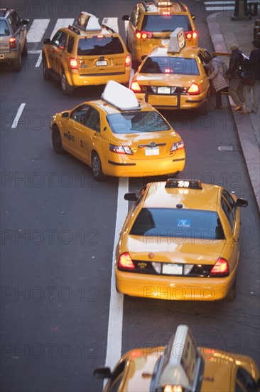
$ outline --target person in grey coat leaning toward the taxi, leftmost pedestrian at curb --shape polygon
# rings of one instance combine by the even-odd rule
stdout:
[[[229,80],[225,77],[226,65],[219,57],[214,56],[213,58],[205,58],[205,68],[210,70],[209,79],[212,81],[212,85],[216,95],[216,106],[215,109],[222,109],[222,91],[227,91],[229,86]]]

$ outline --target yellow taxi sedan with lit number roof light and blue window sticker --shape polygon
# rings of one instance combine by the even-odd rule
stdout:
[[[116,249],[117,291],[167,300],[234,300],[240,209],[247,200],[199,180],[148,183]]]

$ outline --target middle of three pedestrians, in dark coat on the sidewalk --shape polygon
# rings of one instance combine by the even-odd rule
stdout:
[[[244,57],[242,51],[239,51],[239,46],[235,43],[230,46],[230,51],[232,54],[229,60],[229,68],[226,72],[229,78],[229,96],[231,96],[236,104],[234,110],[242,110],[244,106],[244,84],[241,81],[240,73],[242,71]]]

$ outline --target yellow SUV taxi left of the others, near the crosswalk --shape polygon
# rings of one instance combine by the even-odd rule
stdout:
[[[129,86],[131,58],[124,41],[113,29],[100,26],[96,16],[82,11],[75,26],[59,29],[43,43],[43,78],[59,78],[65,95],[78,86],[110,80]]]

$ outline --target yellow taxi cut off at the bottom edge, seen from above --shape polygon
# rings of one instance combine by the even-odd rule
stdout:
[[[259,392],[259,368],[242,354],[197,346],[191,329],[179,325],[166,346],[128,351],[111,371],[104,392]]]

